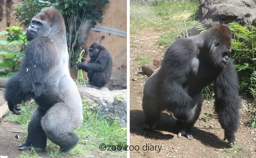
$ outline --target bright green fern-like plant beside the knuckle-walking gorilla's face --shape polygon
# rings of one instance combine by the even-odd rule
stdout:
[[[240,78],[239,89],[247,91],[256,101],[256,27],[229,23],[234,34],[232,49],[235,67]]]

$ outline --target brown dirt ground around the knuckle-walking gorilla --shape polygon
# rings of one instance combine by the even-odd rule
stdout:
[[[192,129],[195,139],[178,138],[172,131],[175,122],[168,112],[162,113],[156,130],[142,129],[144,114],[141,101],[143,86],[148,76],[142,72],[140,63],[135,58],[148,56],[150,59],[161,59],[166,48],[154,44],[160,35],[161,31],[146,30],[130,37],[130,145],[137,146],[135,148],[137,151],[130,151],[130,157],[256,157],[256,132],[253,131],[254,128],[248,126],[248,120],[252,117],[251,103],[248,101],[243,101],[243,108],[240,110],[241,119],[240,128],[236,132],[236,150],[234,148],[231,150],[227,140],[223,141],[224,130],[221,129],[216,115],[210,108],[213,105],[210,101],[204,101],[200,117],[195,123],[196,127],[201,128]],[[206,122],[202,118],[205,113],[210,116]],[[150,147],[146,148],[147,146]]]

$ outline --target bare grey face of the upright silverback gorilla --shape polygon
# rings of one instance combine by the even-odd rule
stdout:
[[[51,24],[47,20],[33,18],[27,28],[26,36],[28,41],[31,41],[38,36],[48,36],[50,33]]]

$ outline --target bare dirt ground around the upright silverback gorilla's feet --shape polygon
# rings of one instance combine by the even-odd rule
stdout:
[[[4,100],[4,88],[0,88],[0,105],[5,103]],[[26,154],[27,151],[19,151],[18,145],[23,144],[26,140],[25,134],[12,133],[12,131],[26,131],[20,124],[14,124],[9,121],[8,117],[4,117],[2,122],[0,122],[0,158],[2,156],[8,156],[8,158],[15,158],[21,154]],[[14,139],[15,135],[19,135],[19,139]],[[48,140],[49,141],[49,140]],[[53,152],[58,151],[56,148]],[[49,157],[46,152],[37,152],[39,157]],[[116,152],[97,152],[90,151],[88,154],[89,157],[95,158],[116,158],[118,156],[123,157],[123,155],[118,155]],[[67,155],[64,156],[67,158],[82,158],[84,156],[79,155]]]

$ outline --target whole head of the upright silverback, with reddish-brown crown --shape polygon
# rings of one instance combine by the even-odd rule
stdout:
[[[28,41],[39,36],[63,39],[66,38],[65,33],[66,28],[62,14],[57,9],[49,7],[32,18],[26,36]]]

